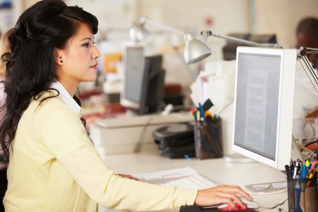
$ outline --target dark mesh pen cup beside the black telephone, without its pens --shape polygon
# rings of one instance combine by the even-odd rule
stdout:
[[[222,130],[221,119],[195,120],[195,152],[197,159],[221,158]]]

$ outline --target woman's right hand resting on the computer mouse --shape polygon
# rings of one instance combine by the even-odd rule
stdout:
[[[237,196],[237,194],[245,197],[248,200],[253,200],[246,192],[244,192],[238,186],[225,186],[220,185],[210,189],[199,190],[195,204],[199,206],[212,206],[219,205],[222,203],[230,204],[233,208],[236,205],[233,201],[236,201],[242,208],[246,209],[242,200]]]

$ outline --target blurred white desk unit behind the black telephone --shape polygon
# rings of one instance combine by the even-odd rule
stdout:
[[[141,144],[141,150],[155,146],[152,133],[156,129],[184,122],[194,122],[194,116],[190,112],[118,115],[89,125],[89,136],[97,147],[102,147],[101,155],[133,153],[137,143]]]

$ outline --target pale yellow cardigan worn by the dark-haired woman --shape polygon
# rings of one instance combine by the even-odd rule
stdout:
[[[192,205],[198,192],[115,175],[90,142],[78,114],[59,96],[41,106],[30,103],[12,147],[6,212],[95,212],[97,203],[113,209],[161,210]]]

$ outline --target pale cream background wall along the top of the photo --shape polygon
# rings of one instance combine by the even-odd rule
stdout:
[[[37,0],[13,0],[14,19],[16,20],[24,9],[36,2]],[[284,47],[290,47],[295,43],[294,31],[301,18],[318,17],[316,0],[94,0],[89,2],[65,0],[65,2],[69,5],[78,4],[99,17],[118,20],[109,24],[107,18],[101,18],[102,28],[118,27],[118,23],[120,27],[125,27],[123,23],[128,18],[138,20],[141,15],[146,15],[173,27],[197,33],[203,29],[211,29],[219,34],[276,33],[279,43]],[[125,10],[125,13],[116,14],[118,10],[115,9],[118,5],[120,7],[120,4],[125,8],[122,10]],[[108,5],[111,6],[107,7]],[[216,39],[214,42],[224,44],[225,41]]]

